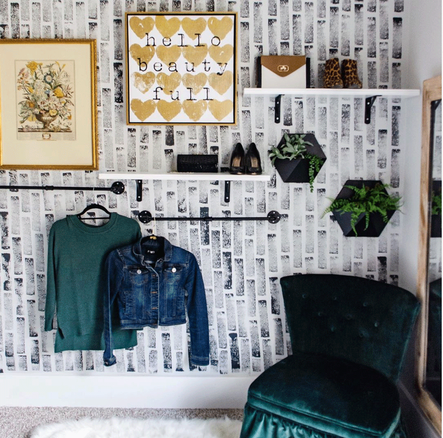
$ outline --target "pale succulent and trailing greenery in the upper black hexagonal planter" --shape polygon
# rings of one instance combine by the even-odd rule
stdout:
[[[314,191],[314,178],[319,172],[324,162],[323,158],[317,157],[306,150],[306,146],[313,146],[312,143],[304,140],[306,134],[284,134],[285,143],[280,146],[273,146],[269,150],[269,158],[272,165],[276,158],[281,160],[295,160],[306,158],[309,160],[309,187],[311,193]]]

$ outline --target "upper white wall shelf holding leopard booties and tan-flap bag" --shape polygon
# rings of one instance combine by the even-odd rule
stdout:
[[[382,97],[415,97],[420,95],[419,89],[402,88],[244,88],[243,94],[255,96],[281,95],[299,96],[382,96]]]

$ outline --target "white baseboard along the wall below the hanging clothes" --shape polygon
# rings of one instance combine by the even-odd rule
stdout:
[[[243,409],[257,377],[0,376],[0,406],[166,409]]]

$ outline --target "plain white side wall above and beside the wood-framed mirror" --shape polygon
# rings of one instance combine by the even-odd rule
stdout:
[[[423,81],[442,74],[442,2],[439,0],[407,0],[404,35],[405,74],[404,88],[419,88]],[[399,286],[416,290],[418,257],[418,220],[421,156],[421,105],[422,95],[409,101],[405,140],[405,192],[403,212],[405,234],[401,240]],[[418,128],[419,127],[419,128]]]

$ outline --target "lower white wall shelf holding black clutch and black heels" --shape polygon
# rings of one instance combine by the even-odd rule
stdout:
[[[136,172],[106,172],[98,174],[100,179],[168,179],[180,181],[269,181],[271,175],[232,175],[225,172],[218,173],[185,173],[185,172],[165,172],[165,173],[136,173]]]

